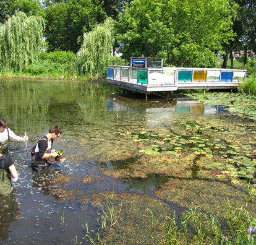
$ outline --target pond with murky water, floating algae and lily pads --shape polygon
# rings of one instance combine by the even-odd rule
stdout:
[[[119,217],[101,233],[106,244],[151,244],[152,213],[162,222],[190,207],[218,214],[227,200],[246,204],[256,183],[253,117],[178,94],[118,94],[104,81],[0,80],[0,118],[29,137],[28,154],[10,143],[19,178],[0,197],[0,244],[90,244],[85,234],[95,239],[112,203]],[[66,161],[34,172],[30,149],[52,125],[63,130],[53,148]],[[255,201],[247,208],[255,216]]]

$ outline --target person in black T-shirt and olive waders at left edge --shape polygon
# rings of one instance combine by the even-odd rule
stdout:
[[[1,149],[1,142],[0,142]],[[0,195],[8,195],[13,191],[12,182],[18,180],[18,173],[10,156],[0,153]]]

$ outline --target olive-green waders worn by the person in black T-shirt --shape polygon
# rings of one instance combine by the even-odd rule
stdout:
[[[10,173],[4,169],[4,165],[5,156],[0,156],[0,195],[8,195],[13,191]]]

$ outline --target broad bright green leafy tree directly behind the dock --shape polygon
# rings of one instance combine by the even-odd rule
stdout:
[[[169,65],[214,67],[233,34],[227,0],[135,0],[120,16],[118,39],[129,57],[164,57]]]

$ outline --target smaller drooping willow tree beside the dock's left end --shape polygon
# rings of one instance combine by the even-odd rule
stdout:
[[[89,78],[104,78],[107,65],[111,64],[110,50],[114,44],[113,20],[107,18],[92,31],[84,33],[81,48],[77,52],[80,72]]]

